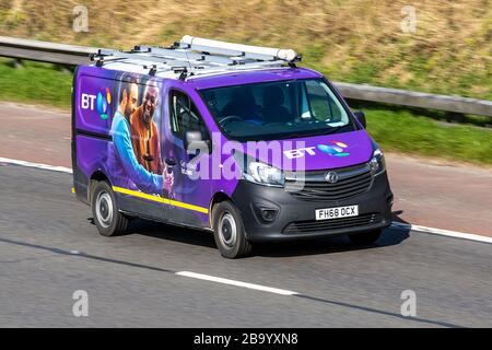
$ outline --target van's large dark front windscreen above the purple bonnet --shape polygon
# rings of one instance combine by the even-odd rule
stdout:
[[[242,142],[358,130],[323,79],[214,88],[200,94],[225,136]]]

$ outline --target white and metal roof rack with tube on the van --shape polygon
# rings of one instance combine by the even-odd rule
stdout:
[[[171,47],[136,46],[130,51],[99,49],[91,55],[97,67],[109,63],[138,65],[150,75],[174,73],[185,80],[192,75],[237,70],[295,67],[302,56],[292,49],[270,48],[211,40],[185,35]],[[108,67],[109,68],[109,67]]]

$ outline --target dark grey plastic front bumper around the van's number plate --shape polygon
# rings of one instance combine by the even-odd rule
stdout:
[[[370,188],[355,197],[337,201],[306,201],[284,188],[239,180],[233,201],[243,217],[246,237],[251,242],[290,241],[345,235],[384,229],[391,223],[393,192],[386,171],[374,177]],[[359,206],[359,215],[347,219],[315,220],[315,210]],[[265,210],[277,211],[274,219]]]

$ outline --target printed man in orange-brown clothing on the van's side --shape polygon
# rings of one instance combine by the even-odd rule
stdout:
[[[130,116],[130,131],[137,161],[149,172],[162,174],[161,142],[157,125],[153,121],[157,98],[159,88],[148,81],[143,102]]]

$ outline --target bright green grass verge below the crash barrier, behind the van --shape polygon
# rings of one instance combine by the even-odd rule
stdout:
[[[23,61],[15,69],[12,60],[0,60],[0,100],[70,107],[72,75],[59,66]],[[461,124],[446,122],[447,115],[389,105],[354,102],[362,109],[367,129],[386,151],[443,158],[456,162],[492,165],[492,128],[489,118],[461,116]]]

